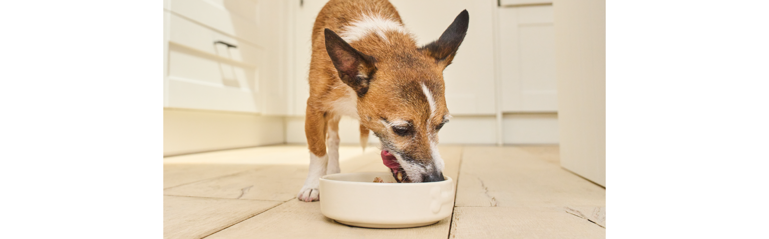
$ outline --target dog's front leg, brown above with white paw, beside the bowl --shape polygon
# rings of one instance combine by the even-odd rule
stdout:
[[[319,178],[326,175],[328,154],[326,154],[325,135],[326,119],[323,112],[311,112],[307,107],[305,116],[305,135],[310,148],[310,172],[296,197],[301,201],[318,201],[320,199]]]

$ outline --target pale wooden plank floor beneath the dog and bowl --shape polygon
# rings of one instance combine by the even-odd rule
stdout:
[[[163,159],[163,238],[602,238],[606,189],[561,168],[558,146],[440,146],[454,214],[421,228],[355,228],[295,197],[307,146]],[[341,146],[341,172],[388,172],[375,147]]]

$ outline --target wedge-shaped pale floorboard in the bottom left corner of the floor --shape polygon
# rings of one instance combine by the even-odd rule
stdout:
[[[281,201],[163,196],[163,238],[202,238]]]

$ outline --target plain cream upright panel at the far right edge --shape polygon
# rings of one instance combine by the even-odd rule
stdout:
[[[606,2],[557,1],[561,165],[606,186]]]

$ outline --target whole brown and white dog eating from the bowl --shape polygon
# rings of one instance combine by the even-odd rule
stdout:
[[[443,70],[468,20],[462,11],[438,41],[419,47],[387,0],[331,0],[323,7],[312,28],[305,118],[310,172],[299,200],[318,201],[318,179],[339,172],[341,116],[360,120],[361,146],[374,131],[398,182],[444,180],[438,130],[451,116]]]

